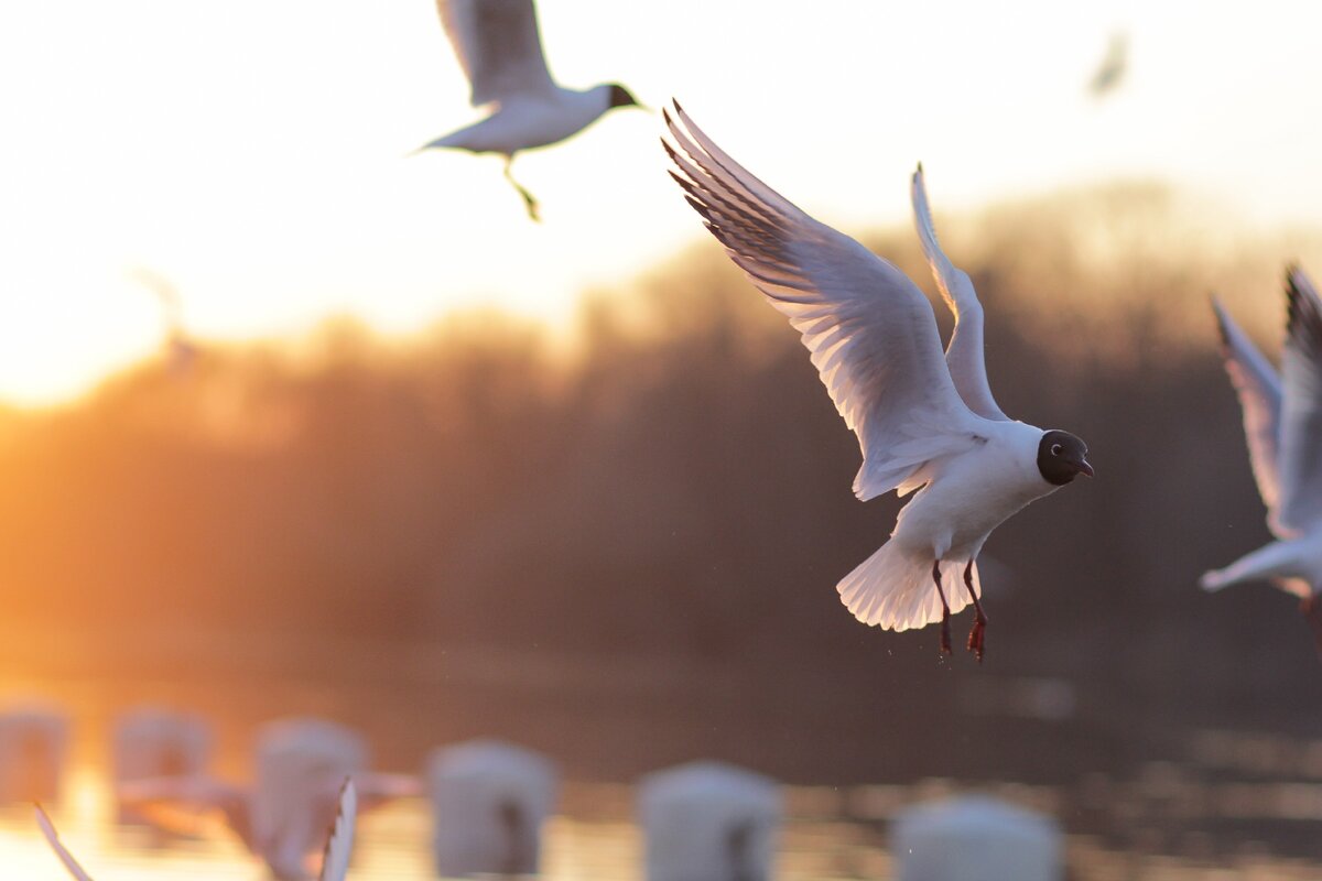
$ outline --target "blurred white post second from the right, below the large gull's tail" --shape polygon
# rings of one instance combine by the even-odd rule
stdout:
[[[648,774],[639,785],[648,881],[767,881],[781,814],[776,782],[732,765]]]

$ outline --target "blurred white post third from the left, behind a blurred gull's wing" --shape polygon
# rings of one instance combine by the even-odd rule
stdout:
[[[279,840],[300,851],[305,841],[324,839],[340,786],[366,767],[366,741],[344,725],[321,719],[263,725],[256,736],[253,849],[267,853]],[[320,816],[327,806],[328,816]]]

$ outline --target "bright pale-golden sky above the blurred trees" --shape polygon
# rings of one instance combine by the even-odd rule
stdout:
[[[846,229],[1116,176],[1236,222],[1322,223],[1322,12],[1305,3],[543,0],[562,85],[678,96],[756,174]],[[1085,87],[1110,36],[1129,69]],[[134,280],[201,338],[330,313],[408,330],[467,304],[558,320],[699,235],[660,119],[526,155],[406,157],[477,116],[428,0],[45,0],[0,7],[0,399],[77,394],[155,351]],[[1317,271],[1322,271],[1318,267]]]

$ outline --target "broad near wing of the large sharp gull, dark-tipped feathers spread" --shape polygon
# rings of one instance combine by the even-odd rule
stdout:
[[[802,334],[857,435],[854,493],[916,489],[932,458],[972,449],[986,424],[960,399],[932,305],[903,272],[814,221],[730,159],[676,103],[672,177],[726,252]],[[678,120],[678,122],[676,122]],[[682,125],[680,124],[682,123]]]

